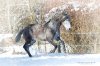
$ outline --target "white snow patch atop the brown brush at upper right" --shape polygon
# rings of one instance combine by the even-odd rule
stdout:
[[[87,4],[80,4],[78,1],[72,1],[72,2],[68,2],[69,5],[72,5],[72,9],[71,11],[78,11],[81,9],[81,11],[88,11],[89,13],[98,9],[100,7],[100,4],[96,4],[95,1],[91,1]]]

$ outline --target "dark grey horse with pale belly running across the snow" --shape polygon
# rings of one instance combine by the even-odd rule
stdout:
[[[41,24],[30,24],[24,29],[20,30],[16,36],[16,42],[18,42],[23,34],[25,44],[23,48],[32,57],[29,47],[32,46],[37,40],[48,41],[54,46],[50,53],[54,53],[58,48],[58,52],[61,53],[60,44],[63,45],[63,51],[66,52],[64,41],[60,38],[60,27],[64,22],[70,23],[70,16],[66,13],[60,13],[58,16],[50,19],[44,25]],[[66,24],[66,23],[64,23]],[[60,44],[56,44],[55,41],[59,41]]]

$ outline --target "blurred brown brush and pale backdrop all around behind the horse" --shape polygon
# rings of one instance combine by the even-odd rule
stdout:
[[[62,26],[61,36],[70,47],[67,47],[68,53],[100,53],[100,0],[0,0],[0,53],[8,51],[5,47],[22,46],[23,39],[19,44],[14,40],[20,29],[28,24],[43,23],[46,13],[65,4],[71,17],[71,29],[66,31]],[[46,49],[48,46],[45,52]]]

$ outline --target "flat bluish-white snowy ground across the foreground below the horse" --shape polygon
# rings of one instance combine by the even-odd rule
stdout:
[[[0,66],[100,66],[100,54],[0,55]]]

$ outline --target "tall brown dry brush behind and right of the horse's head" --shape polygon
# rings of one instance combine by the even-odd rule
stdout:
[[[100,9],[96,9],[91,12],[89,12],[89,9],[81,11],[88,3],[91,2],[91,0],[76,1],[81,4],[78,11],[72,10],[73,6],[68,4],[68,2],[72,2],[71,0],[47,0],[43,5],[41,13],[45,14],[53,7],[57,7],[65,3],[68,4],[66,11],[71,16],[72,28],[70,32],[66,32],[62,26],[61,35],[63,39],[73,48],[73,53],[99,53],[99,51],[95,51],[95,48],[96,50],[99,50]],[[98,3],[98,1],[99,0],[97,0],[96,3]]]

